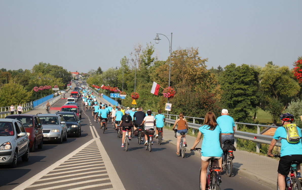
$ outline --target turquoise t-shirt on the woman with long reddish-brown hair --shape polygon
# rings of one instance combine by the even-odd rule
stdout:
[[[201,155],[205,157],[221,157],[222,149],[220,147],[220,133],[219,125],[212,131],[209,130],[209,125],[202,125],[199,131],[204,135],[201,145]]]

